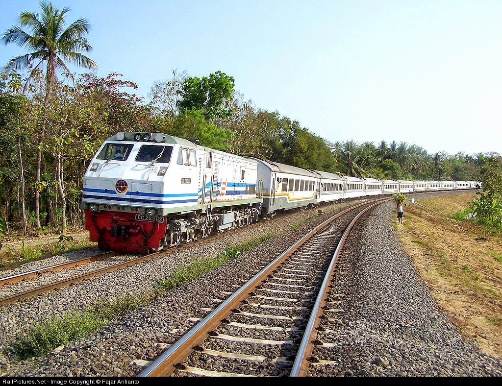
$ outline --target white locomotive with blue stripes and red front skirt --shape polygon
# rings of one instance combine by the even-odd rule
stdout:
[[[257,164],[161,133],[108,138],[84,175],[82,207],[101,249],[148,252],[258,219]]]

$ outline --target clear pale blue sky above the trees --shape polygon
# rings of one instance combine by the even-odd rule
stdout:
[[[330,141],[502,153],[502,1],[53,0],[86,18],[98,76],[148,101],[172,71],[235,79],[244,100]],[[0,33],[37,0],[0,0]],[[0,66],[27,51],[0,46]],[[75,69],[76,73],[84,72]]]

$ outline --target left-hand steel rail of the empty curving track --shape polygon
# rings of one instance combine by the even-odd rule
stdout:
[[[380,199],[377,204],[390,199]],[[174,369],[175,364],[182,361],[190,355],[194,350],[193,347],[206,338],[208,333],[216,326],[221,324],[221,320],[228,316],[232,309],[237,308],[240,302],[248,297],[249,292],[252,292],[262,281],[273,272],[288,256],[301,247],[313,234],[324,228],[327,224],[334,221],[338,217],[368,203],[361,203],[330,217],[316,228],[308,232],[286,251],[276,257],[271,263],[257,273],[253,278],[244,283],[236,292],[224,300],[217,308],[211,311],[204,319],[198,322],[191,330],[183,335],[176,343],[171,345],[164,353],[155,359],[147,368],[141,371],[138,376],[168,376]],[[375,204],[376,205],[376,204]]]

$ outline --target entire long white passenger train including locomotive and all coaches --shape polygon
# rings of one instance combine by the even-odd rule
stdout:
[[[338,200],[472,189],[479,181],[350,177],[239,156],[163,133],[106,139],[85,172],[82,208],[103,250],[148,253]]]

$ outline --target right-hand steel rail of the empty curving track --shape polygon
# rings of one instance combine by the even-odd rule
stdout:
[[[390,201],[392,199],[387,199],[384,200],[383,202]],[[373,207],[382,204],[382,202],[379,203],[374,203],[370,205],[369,207],[363,209],[357,216],[354,217],[354,219],[350,222],[350,224],[347,226],[345,229],[345,232],[343,232],[343,235],[336,247],[335,252],[333,253],[333,257],[331,258],[331,262],[329,264],[329,267],[326,271],[326,275],[324,276],[324,280],[321,284],[321,288],[319,289],[319,293],[317,295],[316,301],[314,303],[314,306],[312,308],[312,312],[310,314],[310,318],[307,322],[307,327],[305,328],[305,332],[303,333],[303,338],[300,342],[300,347],[298,349],[298,354],[295,358],[295,361],[293,362],[293,367],[290,372],[290,376],[306,376],[308,367],[309,367],[309,361],[308,361],[308,356],[311,355],[312,349],[314,347],[314,339],[316,338],[317,335],[317,330],[316,328],[319,327],[320,324],[320,316],[323,313],[323,307],[326,304],[326,298],[328,297],[328,292],[329,288],[328,286],[331,284],[333,281],[332,275],[333,275],[333,270],[336,267],[336,263],[338,261],[338,256],[340,255],[340,252],[343,248],[343,245],[345,244],[345,240],[348,237],[348,234],[354,224],[359,220],[359,218],[372,209]]]

